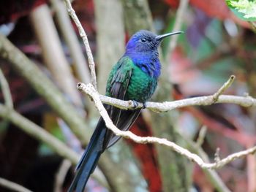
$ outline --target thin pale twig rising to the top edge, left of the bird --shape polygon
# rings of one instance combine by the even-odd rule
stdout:
[[[86,53],[89,61],[89,67],[91,70],[91,83],[94,85],[94,88],[97,89],[97,81],[96,81],[96,73],[95,73],[95,64],[94,64],[94,57],[91,53],[91,48],[89,45],[89,41],[86,35],[86,31],[84,31],[83,26],[80,23],[80,20],[78,20],[78,16],[75,14],[75,10],[72,8],[72,5],[69,0],[65,0],[66,6],[67,6],[67,12],[69,12],[69,15],[74,20],[75,25],[78,27],[78,31],[80,34],[80,37],[83,39],[83,44],[86,46]]]

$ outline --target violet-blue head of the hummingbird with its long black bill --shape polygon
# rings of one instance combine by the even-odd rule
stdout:
[[[150,51],[157,51],[157,47],[162,42],[162,39],[169,37],[174,34],[181,34],[182,31],[177,31],[168,34],[156,35],[151,31],[141,30],[132,35],[127,42],[126,52],[127,53],[143,53]]]

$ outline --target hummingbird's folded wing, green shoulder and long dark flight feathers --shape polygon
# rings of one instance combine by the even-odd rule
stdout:
[[[127,93],[127,88],[129,86],[129,80],[132,77],[132,71],[134,69],[134,64],[132,60],[128,57],[121,58],[116,65],[115,74],[110,74],[110,86],[107,89],[107,93],[116,99],[124,100],[125,94]],[[140,110],[120,110],[117,107],[110,107],[109,115],[113,123],[121,130],[127,131],[132,123],[138,118]],[[110,147],[115,144],[120,137],[113,134],[112,131],[108,131],[105,142]]]

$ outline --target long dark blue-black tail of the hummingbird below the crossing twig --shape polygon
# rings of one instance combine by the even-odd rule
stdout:
[[[100,155],[105,150],[103,145],[106,131],[107,128],[105,127],[104,121],[99,120],[89,145],[86,147],[86,150],[76,167],[75,178],[72,181],[68,192],[83,192],[91,173],[97,166]]]

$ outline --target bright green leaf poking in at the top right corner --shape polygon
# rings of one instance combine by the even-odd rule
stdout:
[[[226,0],[228,7],[242,20],[256,20],[256,0]]]

